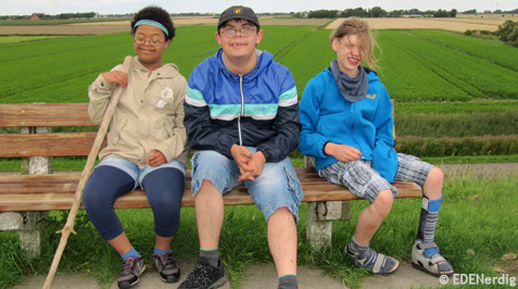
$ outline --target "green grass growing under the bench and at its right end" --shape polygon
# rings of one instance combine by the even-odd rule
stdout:
[[[518,253],[518,211],[510,210],[518,205],[515,196],[517,186],[516,176],[480,178],[466,175],[446,178],[435,241],[441,247],[441,253],[458,273],[501,276],[496,267],[513,269],[513,262],[502,261],[502,256]],[[352,202],[351,221],[333,224],[332,247],[314,251],[305,239],[306,210],[305,204],[302,204],[298,225],[299,265],[319,268],[351,288],[359,288],[361,280],[371,274],[356,268],[344,256],[343,247],[352,238],[358,214],[366,205],[366,201]],[[371,247],[409,262],[419,206],[418,199],[395,201],[391,214],[372,239]],[[248,265],[273,263],[267,247],[266,223],[253,205],[226,206],[225,211],[220,251],[232,288],[239,288]],[[148,265],[153,266],[151,210],[117,210],[117,214],[134,247],[141,252]],[[42,240],[46,240],[42,254],[36,260],[27,259],[20,250],[16,234],[0,233],[0,288],[15,286],[23,276],[48,273],[60,238],[54,231],[63,227],[66,216],[67,212],[50,213],[42,236]],[[59,272],[86,274],[97,278],[103,288],[109,288],[118,275],[119,256],[99,237],[83,211],[76,219],[75,230],[77,236],[72,235],[68,239]],[[189,260],[197,257],[198,250],[194,211],[184,208],[173,251],[179,260]]]

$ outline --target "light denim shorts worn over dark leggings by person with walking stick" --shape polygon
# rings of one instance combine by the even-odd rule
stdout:
[[[144,168],[140,168],[137,164],[128,160],[118,159],[118,158],[106,158],[102,160],[97,166],[101,166],[101,165],[115,166],[126,172],[135,180],[134,189],[141,186],[142,179],[146,177],[146,175],[160,168],[173,167],[180,171],[184,174],[184,176],[186,175],[186,166],[184,165],[182,162],[178,160],[173,160],[168,163],[161,164],[159,166],[146,165]]]

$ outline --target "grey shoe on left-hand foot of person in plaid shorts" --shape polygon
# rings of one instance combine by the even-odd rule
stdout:
[[[391,256],[377,253],[370,248],[367,248],[367,250],[362,253],[353,253],[351,252],[348,244],[348,247],[345,247],[345,251],[348,255],[354,260],[354,264],[357,267],[366,268],[374,274],[392,274],[400,267],[400,261]]]

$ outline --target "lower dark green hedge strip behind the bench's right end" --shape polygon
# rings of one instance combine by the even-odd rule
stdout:
[[[397,152],[417,156],[518,154],[518,135],[466,138],[397,137]]]

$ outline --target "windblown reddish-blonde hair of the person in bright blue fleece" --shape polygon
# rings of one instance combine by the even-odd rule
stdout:
[[[371,70],[379,70],[378,67],[378,59],[375,56],[375,49],[381,52],[378,43],[372,37],[370,33],[370,28],[365,21],[362,21],[357,17],[349,17],[340,24],[340,26],[334,29],[331,34],[330,42],[337,38],[339,41],[342,40],[343,37],[349,35],[357,35],[358,46],[363,47],[362,52],[364,54],[364,60],[367,62],[368,66]]]

